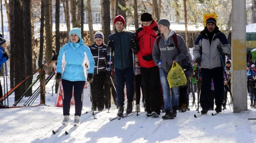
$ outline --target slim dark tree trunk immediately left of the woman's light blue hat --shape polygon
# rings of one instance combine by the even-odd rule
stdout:
[[[60,51],[60,0],[56,0],[55,7],[55,41],[56,41],[56,53]],[[58,92],[59,83],[55,83],[55,93]]]

